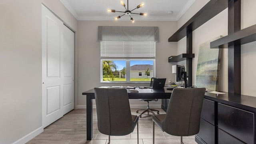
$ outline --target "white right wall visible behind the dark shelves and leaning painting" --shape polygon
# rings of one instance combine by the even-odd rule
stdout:
[[[178,26],[182,26],[193,15],[200,10],[202,0],[196,0],[194,4],[188,9],[188,11],[178,20]],[[255,0],[242,0],[241,10],[241,29],[256,24],[256,10],[253,6],[256,4]],[[227,9],[220,14],[197,28],[193,31],[193,53],[195,58],[193,59],[193,82],[196,81],[196,68],[198,61],[198,49],[199,45],[216,38],[220,35],[226,36],[228,34],[228,11]],[[256,67],[252,62],[256,61],[256,42],[250,44],[244,44],[241,46],[241,93],[249,96],[256,96],[256,90],[250,86],[254,85],[256,78],[254,72]],[[178,54],[186,52],[186,38],[183,38],[178,42]],[[227,49],[222,49],[221,71],[219,77],[219,90],[228,91],[228,52]]]

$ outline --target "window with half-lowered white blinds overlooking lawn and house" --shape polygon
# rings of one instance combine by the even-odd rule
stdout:
[[[150,82],[155,42],[101,42],[101,82]]]

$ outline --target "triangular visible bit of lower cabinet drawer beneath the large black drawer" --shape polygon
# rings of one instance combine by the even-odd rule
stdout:
[[[218,144],[245,144],[221,129],[218,130],[218,136]]]

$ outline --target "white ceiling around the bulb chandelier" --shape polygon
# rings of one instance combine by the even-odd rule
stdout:
[[[116,11],[125,11],[120,0],[60,0],[77,20],[114,20],[114,17],[124,13],[108,13],[110,8]],[[195,0],[129,0],[129,10],[136,8],[141,2],[145,6],[138,8],[134,13],[148,13],[147,17],[131,14],[134,20],[178,20]],[[124,0],[127,8],[127,0]],[[172,14],[168,14],[172,11]],[[122,16],[120,20],[130,20],[129,16]]]

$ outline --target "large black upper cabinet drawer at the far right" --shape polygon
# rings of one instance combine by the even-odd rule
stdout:
[[[218,128],[247,143],[254,144],[254,113],[218,104]]]

